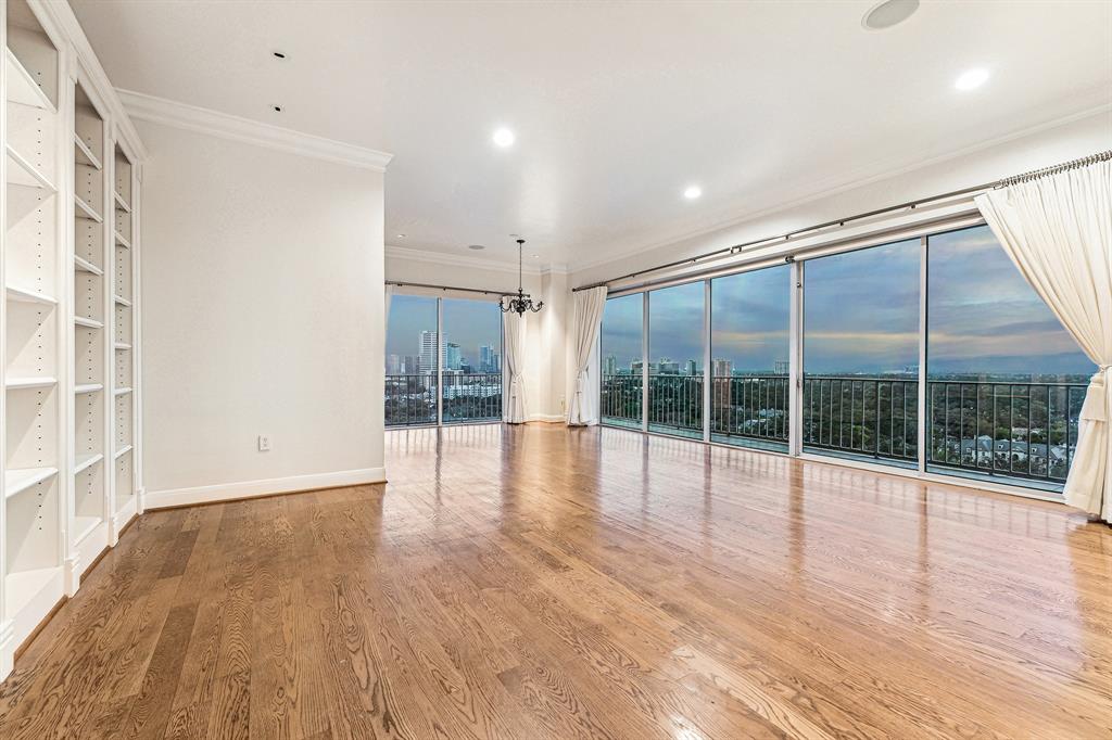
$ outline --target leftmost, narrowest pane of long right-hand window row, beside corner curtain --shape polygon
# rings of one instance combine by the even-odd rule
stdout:
[[[603,309],[603,384],[600,419],[604,424],[641,428],[642,329],[644,297],[612,298]]]

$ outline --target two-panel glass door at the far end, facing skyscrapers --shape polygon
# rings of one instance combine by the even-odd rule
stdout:
[[[387,427],[502,419],[497,303],[394,296],[386,328]]]

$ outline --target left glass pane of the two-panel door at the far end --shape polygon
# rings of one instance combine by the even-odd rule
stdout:
[[[387,427],[436,423],[436,299],[394,296],[386,326]]]

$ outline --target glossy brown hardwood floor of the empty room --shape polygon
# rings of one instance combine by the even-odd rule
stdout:
[[[1109,738],[1112,530],[556,426],[152,512],[0,687],[19,738]]]

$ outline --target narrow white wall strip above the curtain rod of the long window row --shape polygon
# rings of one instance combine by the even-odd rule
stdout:
[[[907,146],[913,147],[915,142],[909,141]],[[646,244],[628,254],[612,256],[588,266],[573,266],[576,269],[570,282],[573,287],[584,286],[814,223],[993,182],[1105,149],[1112,149],[1112,111],[1031,131],[933,163],[924,162],[921,167],[832,191],[821,198],[744,216],[733,224],[692,234],[677,242]]]

